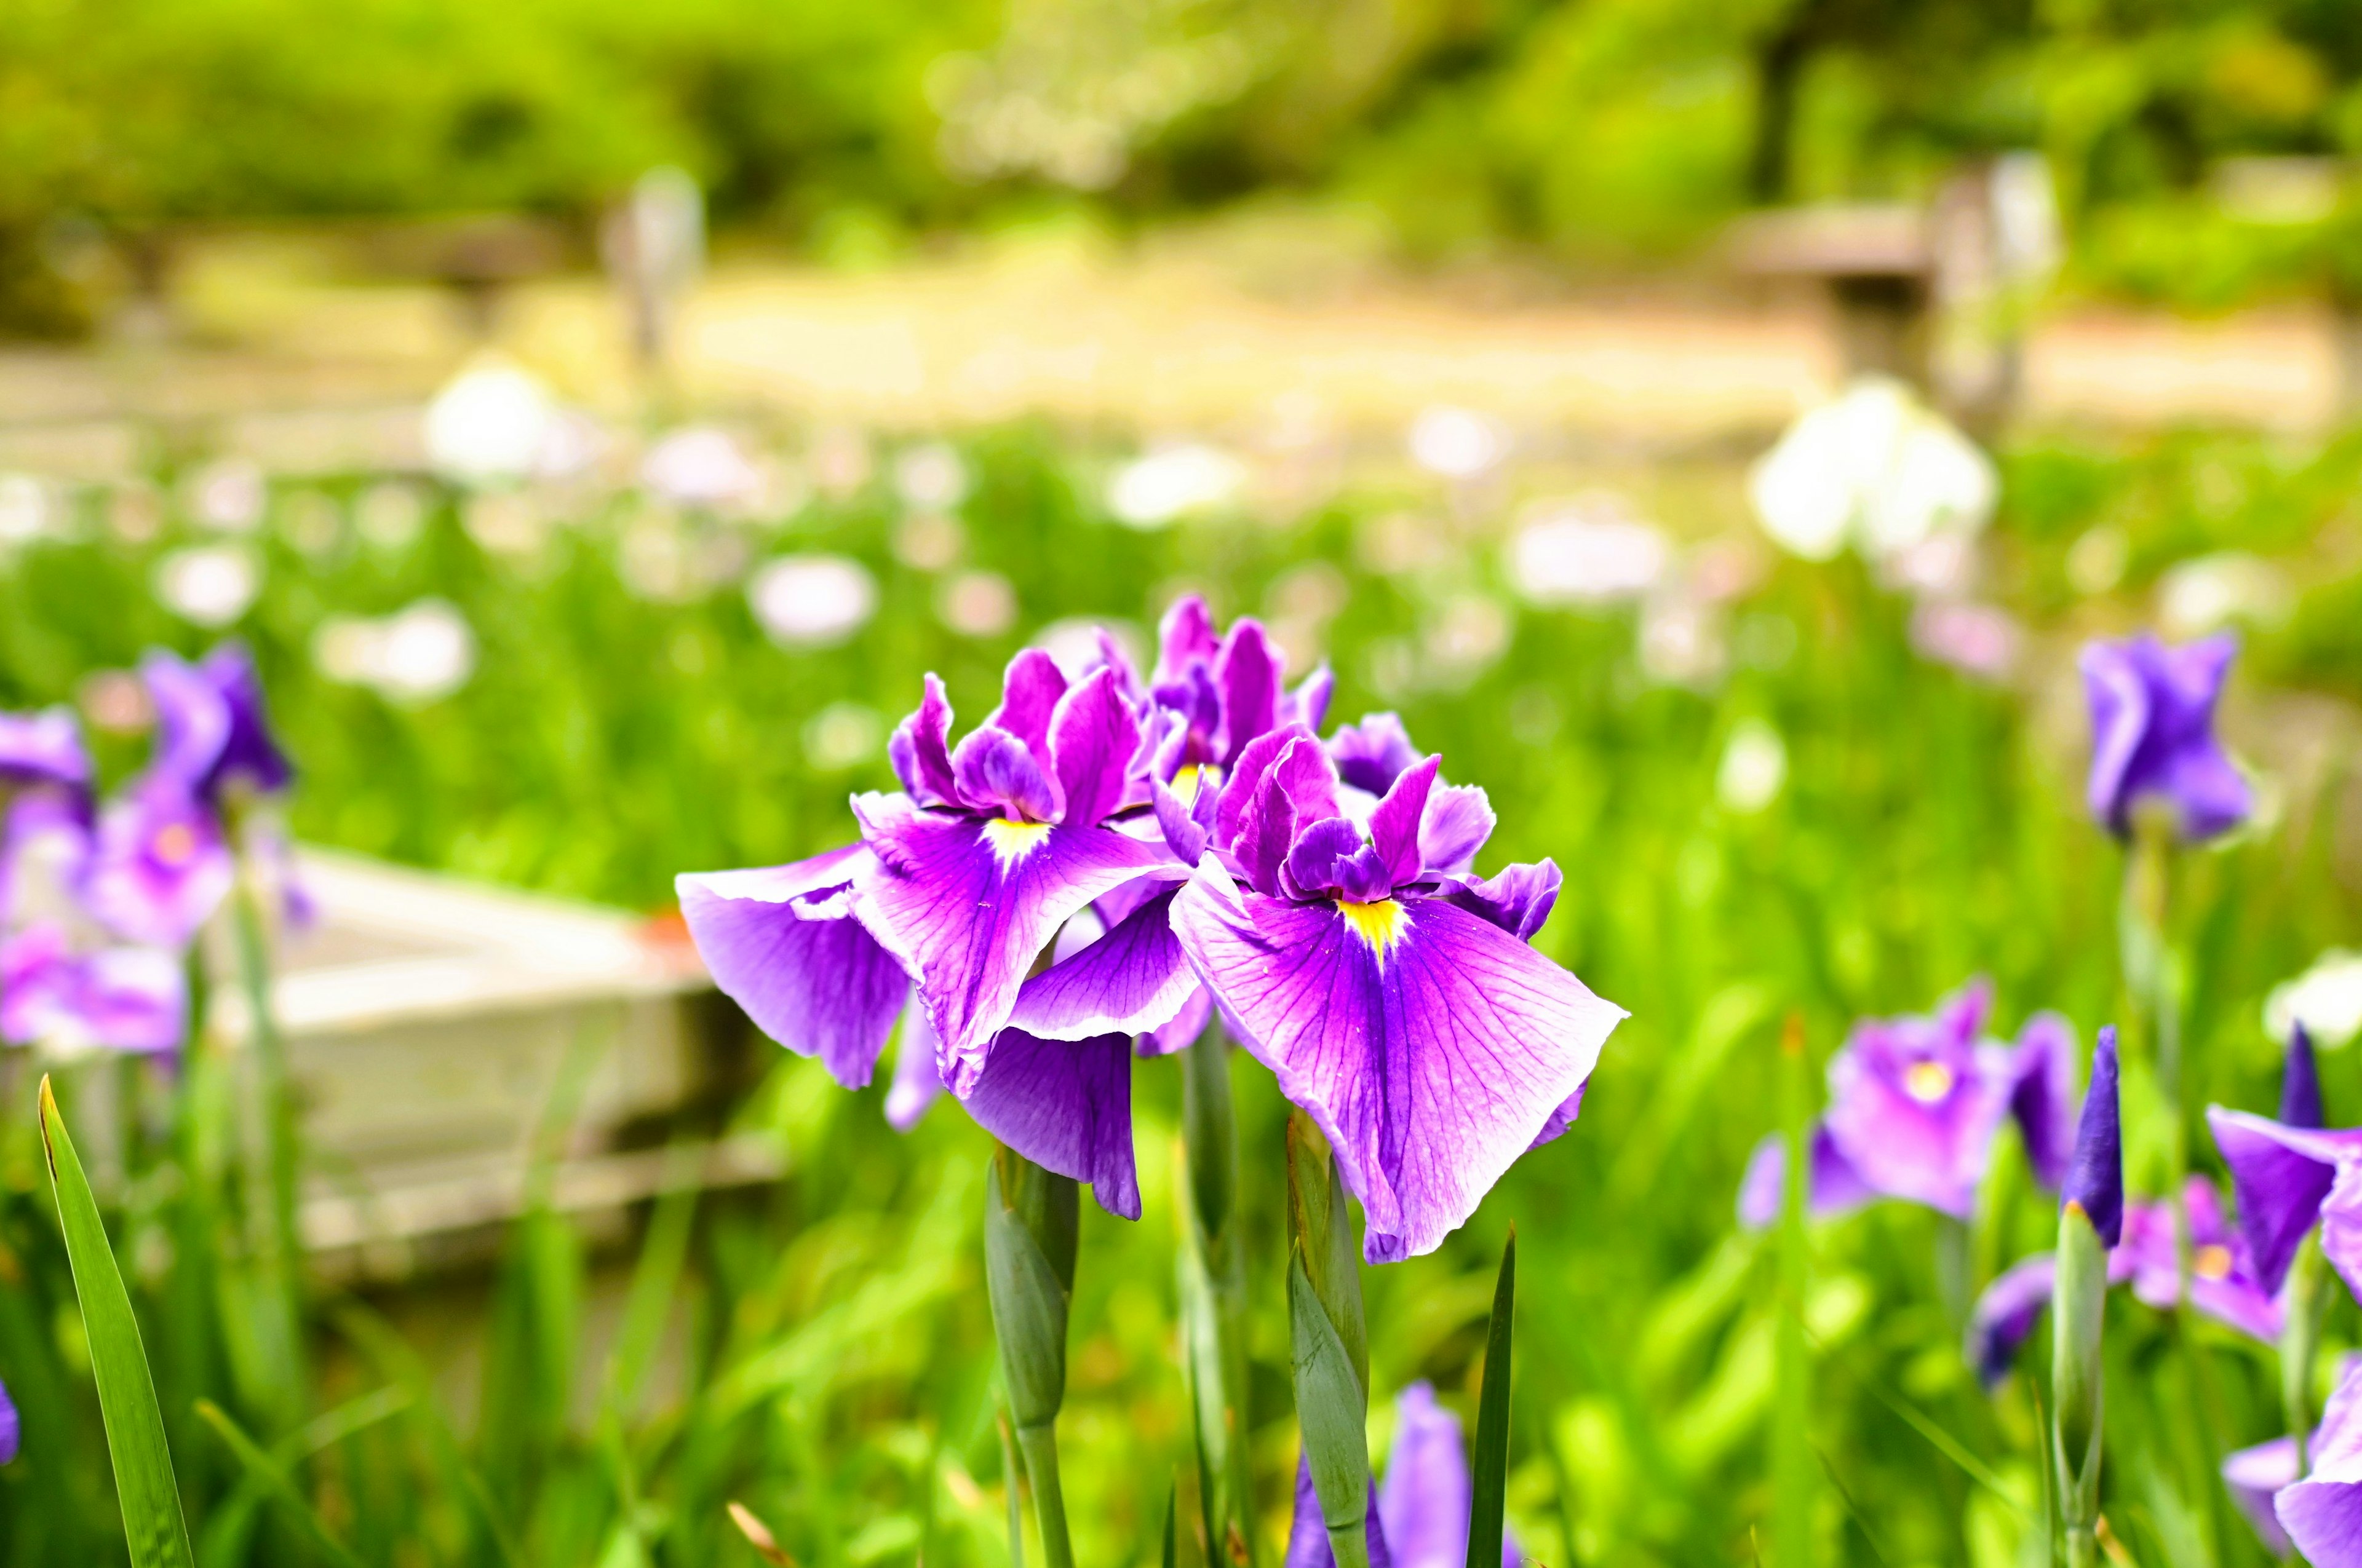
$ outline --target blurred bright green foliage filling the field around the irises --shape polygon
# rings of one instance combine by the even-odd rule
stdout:
[[[883,479],[789,520],[680,524],[867,562],[881,614],[827,652],[770,645],[730,583],[676,600],[635,593],[616,564],[640,505],[631,496],[586,501],[546,550],[508,557],[484,553],[449,498],[413,541],[371,543],[350,512],[373,479],[279,486],[255,541],[267,588],[234,631],[255,645],[305,770],[298,829],[654,912],[673,871],[777,862],[848,836],[846,793],[888,775],[876,758],[843,772],[813,760],[805,725],[829,704],[890,723],[935,668],[973,720],[1006,654],[1051,621],[1143,628],[1181,586],[1205,588],[1224,614],[1285,614],[1318,583],[1313,597],[1339,607],[1325,628],[1335,713],[1398,706],[1453,779],[1483,784],[1502,817],[1483,869],[1554,855],[1568,881],[1540,947],[1632,1011],[1568,1138],[1523,1159],[1438,1254],[1368,1270],[1379,1410],[1429,1377],[1467,1415],[1493,1263],[1519,1223],[1509,1509],[1526,1551],[1549,1563],[1748,1561],[1757,1549],[1772,1509],[1776,1266],[1736,1233],[1731,1209],[1748,1150],[1776,1122],[1790,1013],[1814,1072],[1852,1018],[1925,1008],[1972,973],[1996,980],[2008,1030],[2062,1008],[2088,1041],[2119,1015],[2121,864],[2079,805],[2081,720],[2071,682],[2060,685],[2074,642],[2140,621],[2166,567],[2234,543],[2303,586],[2242,659],[2232,711],[2244,732],[2265,734],[2282,687],[2362,690],[2353,439],[2050,439],[2005,453],[1991,574],[2036,635],[2022,690],[1920,659],[1908,605],[1849,562],[1774,564],[1731,607],[1729,675],[1670,687],[1644,678],[1630,607],[1521,609],[1490,534],[1448,522],[1448,498],[1427,482],[1356,482],[1290,522],[1224,515],[1141,534],[1101,512],[1108,453],[1039,430],[964,451],[968,564],[1001,571],[1023,607],[999,638],[935,621],[935,576],[893,555],[900,503]],[[1691,538],[1724,534],[1734,475],[1696,468],[1689,489],[1668,491],[1691,496],[1668,522]],[[347,517],[326,545],[321,494]],[[1372,538],[1405,508],[1457,543],[1386,569]],[[291,543],[298,515],[314,520],[305,550]],[[76,538],[0,564],[0,704],[73,699],[92,671],[151,642],[210,640],[146,588],[154,560],[196,524],[172,515],[161,536],[128,543],[106,517],[104,496],[85,496]],[[2121,583],[2090,597],[2067,560],[2095,529],[2116,529],[2128,550]],[[420,593],[456,602],[482,640],[458,694],[394,708],[314,668],[326,614],[380,614]],[[1505,654],[1464,680],[1398,685],[1401,649],[1472,595],[1509,616]],[[1786,739],[1788,784],[1760,812],[1729,808],[1715,786],[1743,723]],[[111,765],[137,749],[113,737]],[[2322,805],[2334,791],[2275,798],[2277,815],[2197,855],[2178,890],[2192,1112],[2272,1103],[2260,997],[2317,949],[2350,942],[2362,914]],[[609,1254],[609,1270],[635,1270],[633,1299],[652,1304],[631,1320],[654,1313],[661,1334],[593,1332],[588,1242],[536,1214],[487,1282],[479,1381],[435,1384],[378,1327],[385,1299],[340,1294],[309,1308],[309,1379],[274,1381],[241,1351],[265,1318],[234,1287],[246,1247],[224,1216],[243,1211],[239,1164],[203,1136],[220,1115],[217,1072],[201,1056],[180,1093],[149,1084],[135,1181],[113,1216],[208,1563],[324,1559],[295,1511],[241,1490],[236,1459],[191,1415],[198,1396],[276,1445],[321,1528],[366,1563],[751,1563],[723,1518],[732,1497],[815,1568],[1006,1561],[976,1244],[987,1141],[954,1105],[895,1138],[881,1091],[848,1096],[813,1063],[777,1058],[735,1115],[784,1141],[789,1178],[676,1202],[645,1219],[635,1249]],[[2362,1117],[2353,1056],[2329,1058],[2324,1079],[2331,1122]],[[1275,1263],[1283,1105],[1242,1058],[1235,1082],[1259,1313],[1252,1426],[1275,1554],[1294,1466]],[[0,1540],[12,1563],[80,1568],[118,1547],[21,1070],[12,1093],[0,1367],[26,1412],[26,1452],[0,1471]],[[1141,1065],[1136,1096],[1146,1216],[1127,1226],[1091,1209],[1084,1221],[1063,1422],[1084,1561],[1148,1561],[1169,1478],[1188,1469],[1172,1063]],[[2128,1115],[2133,1185],[2154,1190],[2168,1126],[2138,1053]],[[2190,1136],[2206,1150],[2194,1119]],[[2050,1202],[2010,1148],[1972,1228],[1970,1285],[2045,1247],[2050,1230]],[[1790,1415],[1819,1462],[1823,1561],[2005,1568],[2041,1556],[2034,1386],[2020,1379],[2001,1398],[1975,1386],[1958,1299],[1937,1285],[1937,1233],[1906,1204],[1814,1233],[1812,1400]],[[2341,1304],[2331,1348],[2357,1329]],[[671,1346],[671,1370],[650,1381],[635,1344]],[[2213,1464],[2220,1448],[2275,1431],[2270,1358],[2126,1299],[2112,1306],[2109,1353],[2107,1509],[2138,1561],[2260,1563]],[[1183,1542],[1183,1556],[1198,1547]]]

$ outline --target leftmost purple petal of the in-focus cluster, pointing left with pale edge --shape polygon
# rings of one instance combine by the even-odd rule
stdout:
[[[902,966],[853,919],[853,874],[869,845],[756,871],[673,878],[680,919],[713,985],[796,1056],[862,1089],[909,997]]]

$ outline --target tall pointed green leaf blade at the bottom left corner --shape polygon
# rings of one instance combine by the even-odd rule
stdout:
[[[180,1485],[172,1481],[172,1450],[163,1440],[156,1379],[139,1344],[139,1320],[132,1318],[132,1299],[106,1244],[99,1202],[90,1195],[90,1178],[83,1176],[47,1077],[40,1079],[40,1141],[50,1155],[50,1188],[66,1233],[66,1259],[73,1263],[73,1294],[83,1304],[83,1334],[99,1381],[106,1455],[116,1466],[132,1568],[196,1568],[189,1523],[180,1514]]]

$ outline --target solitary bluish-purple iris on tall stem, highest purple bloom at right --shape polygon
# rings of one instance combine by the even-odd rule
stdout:
[[[2213,838],[2246,822],[2253,801],[2213,732],[2216,699],[2239,645],[2204,638],[2166,647],[2142,633],[2083,645],[2090,701],[2090,815],[2119,838],[2133,810],[2159,801],[2182,838]]]

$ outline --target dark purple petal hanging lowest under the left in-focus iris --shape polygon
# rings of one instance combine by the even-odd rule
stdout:
[[[1129,1037],[1035,1039],[1001,1030],[961,1103],[978,1126],[1042,1169],[1089,1181],[1108,1214],[1141,1216]]]

